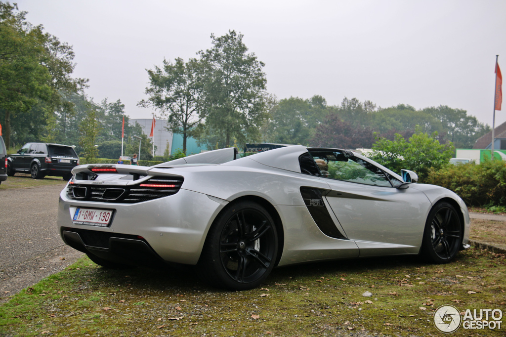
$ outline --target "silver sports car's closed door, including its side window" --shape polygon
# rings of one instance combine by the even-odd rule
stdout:
[[[311,154],[331,189],[326,202],[360,256],[418,252],[430,208],[425,194],[397,189],[401,181],[350,151]]]

